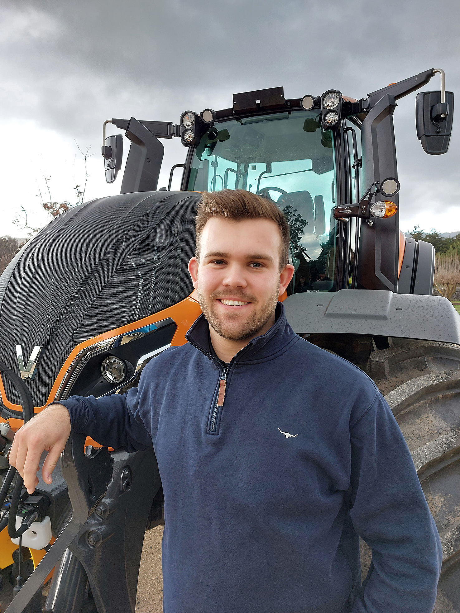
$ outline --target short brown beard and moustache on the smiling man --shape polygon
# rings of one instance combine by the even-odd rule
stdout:
[[[220,337],[227,338],[231,341],[242,341],[247,338],[253,338],[257,335],[259,330],[263,329],[275,312],[279,291],[280,284],[278,282],[276,291],[263,303],[261,309],[255,310],[247,319],[239,322],[238,328],[235,328],[231,324],[232,322],[238,322],[239,315],[235,313],[235,316],[232,317],[230,311],[226,318],[219,316],[214,308],[215,300],[218,298],[226,299],[228,296],[233,299],[237,298],[241,302],[251,302],[256,306],[259,302],[256,297],[250,294],[243,294],[243,292],[240,291],[212,292],[209,297],[205,297],[199,289],[197,290],[198,302],[207,322]]]

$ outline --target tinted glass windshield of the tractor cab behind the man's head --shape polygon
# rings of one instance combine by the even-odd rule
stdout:
[[[274,200],[289,221],[296,291],[331,291],[335,185],[332,132],[318,112],[294,111],[216,122],[196,147],[187,189],[247,189]]]

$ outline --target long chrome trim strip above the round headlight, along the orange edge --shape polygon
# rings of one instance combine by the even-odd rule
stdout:
[[[169,324],[174,323],[174,319],[171,319],[171,317],[161,319],[160,321],[156,321],[154,324],[137,328],[136,330],[130,330],[124,334],[120,334],[112,338],[106,338],[104,341],[99,341],[99,343],[94,343],[94,345],[85,347],[85,349],[82,349],[82,351],[80,351],[74,357],[72,364],[69,366],[69,368],[67,368],[67,372],[63,376],[63,380],[59,384],[58,390],[54,397],[54,402],[66,400],[66,398],[69,397],[69,392],[71,391],[75,380],[80,375],[86,364],[88,364],[91,357],[97,356],[99,353],[103,353],[104,351],[109,351],[109,349],[126,345],[126,343],[130,343],[132,340],[145,337],[148,334],[155,332],[159,328],[163,328],[164,326],[169,326]]]

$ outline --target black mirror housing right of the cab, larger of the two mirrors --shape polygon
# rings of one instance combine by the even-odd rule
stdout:
[[[440,91],[423,91],[415,101],[415,124],[417,137],[425,153],[441,155],[447,153],[452,134],[454,116],[454,94],[445,93],[441,102]]]

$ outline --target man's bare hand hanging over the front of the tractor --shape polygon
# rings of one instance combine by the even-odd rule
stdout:
[[[39,482],[37,471],[44,451],[48,451],[48,455],[42,468],[42,477],[45,483],[52,483],[51,473],[55,470],[70,433],[71,419],[63,405],[48,406],[17,431],[10,449],[9,462],[24,479],[24,487],[29,494],[34,492]]]

